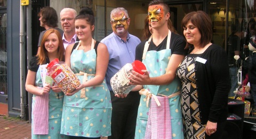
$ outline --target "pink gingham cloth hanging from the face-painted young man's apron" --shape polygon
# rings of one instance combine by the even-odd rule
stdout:
[[[161,105],[157,106],[155,98],[151,98],[145,139],[172,138],[169,99],[168,97],[156,97]]]

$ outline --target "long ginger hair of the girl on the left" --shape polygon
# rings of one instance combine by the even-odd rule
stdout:
[[[63,46],[63,41],[62,41],[62,37],[60,35],[60,32],[58,30],[55,30],[55,29],[49,29],[47,30],[44,35],[43,35],[43,38],[42,38],[42,42],[41,42],[41,49],[40,49],[40,53],[38,55],[38,63],[39,65],[41,64],[46,64],[46,58],[48,57],[48,51],[45,49],[45,45],[44,45],[44,42],[46,41],[46,38],[49,36],[49,34],[51,33],[55,33],[57,34],[57,37],[59,39],[59,46],[58,46],[58,55],[57,55],[57,58],[60,60],[60,61],[64,61],[65,59],[65,48]]]

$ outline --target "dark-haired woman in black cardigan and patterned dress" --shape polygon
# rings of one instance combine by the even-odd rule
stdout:
[[[182,27],[190,47],[176,72],[185,138],[221,138],[230,90],[227,54],[210,42],[212,21],[205,12],[188,13]]]

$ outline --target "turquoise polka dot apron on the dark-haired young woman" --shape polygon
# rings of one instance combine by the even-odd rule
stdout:
[[[92,39],[91,50],[78,50],[70,56],[72,71],[82,82],[90,81],[96,73],[97,54]],[[61,133],[71,136],[100,137],[111,135],[111,100],[106,81],[84,88],[64,97]]]

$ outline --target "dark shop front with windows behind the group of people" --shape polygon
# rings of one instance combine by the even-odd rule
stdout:
[[[92,8],[95,16],[95,40],[100,41],[112,32],[110,25],[110,12],[113,8],[124,7],[131,18],[129,33],[142,39],[144,19],[147,16],[147,8],[150,0],[47,0],[47,1],[29,1],[30,5],[20,6],[18,0],[0,0],[0,103],[8,104],[9,115],[19,116],[21,111],[20,92],[25,91],[20,88],[20,82],[26,79],[25,73],[20,73],[20,37],[19,37],[19,14],[20,7],[25,10],[25,18],[29,18],[31,13],[31,21],[24,20],[25,25],[31,22],[31,27],[25,28],[25,52],[22,58],[25,58],[25,68],[27,68],[27,61],[29,57],[36,55],[38,36],[43,28],[39,27],[38,16],[41,7],[51,6],[57,13],[60,13],[62,8],[71,7],[78,13],[83,7]],[[202,10],[211,17],[213,24],[213,38],[212,42],[218,44],[220,47],[230,51],[228,47],[228,38],[230,34],[240,31],[241,39],[239,44],[239,56],[248,57],[250,51],[247,47],[250,38],[250,23],[256,20],[255,0],[180,0],[172,1],[165,0],[170,6],[171,21],[174,28],[179,34],[183,35],[181,27],[181,20],[184,15],[189,12]],[[31,7],[29,7],[31,6]],[[31,32],[28,31],[31,28]],[[59,22],[59,28],[61,28]],[[28,34],[32,34],[31,38]],[[31,42],[27,39],[31,39]],[[27,50],[29,50],[27,53]],[[243,73],[243,71],[242,71]],[[20,76],[23,74],[23,76]],[[244,75],[244,74],[242,74]],[[20,78],[23,78],[20,80]],[[241,80],[244,79],[242,76]],[[26,92],[26,91],[25,91]],[[29,119],[31,108],[29,93],[25,93],[25,108],[26,119]]]

